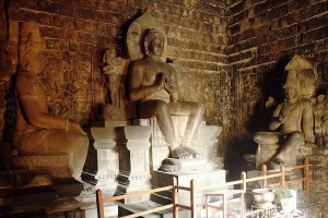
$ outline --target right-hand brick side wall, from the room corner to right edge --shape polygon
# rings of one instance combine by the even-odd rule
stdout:
[[[268,96],[281,99],[283,69],[294,55],[308,59],[317,70],[318,87],[327,87],[327,0],[227,1],[227,59],[237,87],[233,113],[239,137],[265,130],[265,120],[258,118],[261,102]]]

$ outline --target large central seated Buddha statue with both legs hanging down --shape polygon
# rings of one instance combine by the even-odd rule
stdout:
[[[200,102],[181,101],[175,69],[161,60],[164,35],[156,28],[147,29],[143,37],[145,57],[130,66],[129,96],[139,101],[139,117],[156,118],[173,158],[189,159],[198,154],[190,147],[204,113]],[[174,131],[171,114],[187,116],[187,126],[180,143]]]

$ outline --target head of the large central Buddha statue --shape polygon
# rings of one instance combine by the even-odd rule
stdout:
[[[144,53],[161,57],[164,50],[164,35],[160,31],[148,29],[143,38]]]

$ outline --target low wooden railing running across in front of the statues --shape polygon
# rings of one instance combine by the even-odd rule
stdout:
[[[301,178],[301,179],[285,181],[285,172],[290,171],[290,170],[297,170],[297,169],[304,169],[304,177]],[[152,213],[157,213],[157,211],[161,211],[161,210],[164,210],[164,209],[169,209],[169,208],[173,209],[174,218],[178,218],[178,208],[184,208],[184,209],[190,210],[191,211],[191,218],[194,218],[194,217],[197,217],[197,209],[198,208],[203,209],[207,206],[207,205],[197,206],[196,195],[197,195],[198,191],[218,190],[220,187],[229,187],[229,186],[237,185],[237,184],[241,185],[242,190],[246,191],[247,182],[254,182],[254,181],[262,181],[262,183],[261,183],[262,187],[267,187],[268,186],[268,179],[272,179],[272,178],[280,178],[280,182],[279,183],[272,183],[272,184],[270,184],[270,186],[276,186],[276,185],[285,186],[285,184],[288,184],[288,183],[304,182],[303,187],[306,192],[307,198],[309,197],[308,159],[306,159],[306,158],[304,160],[304,165],[302,165],[302,166],[295,166],[295,167],[292,167],[292,168],[285,168],[285,167],[281,166],[279,170],[267,170],[267,166],[263,165],[262,168],[261,168],[261,174],[262,174],[261,177],[247,179],[246,173],[242,172],[241,173],[241,180],[226,182],[226,183],[222,183],[222,184],[218,184],[218,185],[202,186],[202,187],[197,187],[195,180],[190,181],[190,187],[180,186],[180,185],[177,185],[176,178],[173,178],[173,185],[159,187],[159,189],[154,189],[154,190],[149,190],[149,191],[136,192],[136,193],[120,195],[120,196],[113,196],[113,197],[108,197],[108,198],[104,198],[102,190],[97,190],[96,194],[97,194],[98,217],[99,218],[105,217],[105,215],[104,215],[104,203],[106,203],[106,202],[115,202],[115,201],[126,199],[126,198],[129,198],[129,197],[134,197],[134,196],[140,196],[140,195],[145,195],[145,194],[152,194],[152,193],[156,193],[156,192],[172,191],[172,204],[164,205],[164,206],[156,207],[156,208],[152,208],[152,209],[148,209],[148,210],[140,211],[140,213],[137,213],[137,214],[133,214],[133,215],[125,216],[124,218],[139,217],[139,216],[149,215],[149,214],[152,214]],[[178,190],[185,190],[185,191],[190,192],[190,206],[178,204],[178,201],[177,201],[177,191]]]

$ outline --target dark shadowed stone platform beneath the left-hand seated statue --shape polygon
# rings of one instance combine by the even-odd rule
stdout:
[[[2,171],[0,217],[47,217],[77,210],[81,204],[74,197],[82,190],[83,184],[74,179],[50,179],[49,174],[33,171]]]

